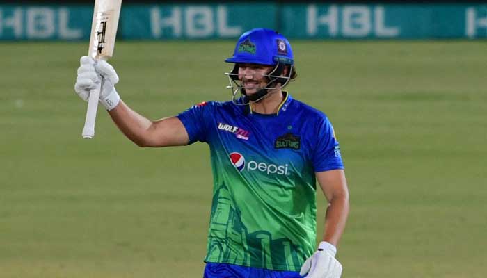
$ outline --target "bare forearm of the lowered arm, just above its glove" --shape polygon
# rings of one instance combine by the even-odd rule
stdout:
[[[323,240],[335,246],[345,229],[346,219],[349,215],[349,194],[344,192],[330,199],[326,210]]]

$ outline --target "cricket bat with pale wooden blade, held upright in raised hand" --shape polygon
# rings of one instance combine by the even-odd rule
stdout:
[[[88,56],[93,57],[95,60],[108,60],[109,57],[113,56],[121,6],[122,0],[95,0],[90,48],[88,49]],[[102,84],[100,82],[97,88],[90,91],[85,126],[82,133],[83,138],[91,139],[95,136],[95,120],[101,87]]]

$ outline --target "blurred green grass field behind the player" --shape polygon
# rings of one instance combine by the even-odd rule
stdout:
[[[351,192],[345,278],[480,278],[487,43],[294,42],[292,95],[335,126]],[[141,149],[74,94],[87,43],[0,44],[0,277],[202,277],[207,145]],[[156,119],[230,98],[233,42],[120,42],[118,91]],[[319,195],[319,234],[324,197]]]

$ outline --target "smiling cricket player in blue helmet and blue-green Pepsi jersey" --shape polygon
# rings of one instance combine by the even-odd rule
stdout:
[[[75,90],[86,101],[102,82],[100,103],[141,147],[209,145],[205,278],[340,277],[335,254],[349,213],[344,165],[326,115],[282,90],[296,78],[291,45],[256,28],[241,35],[225,62],[234,64],[227,73],[232,101],[203,102],[156,121],[120,99],[118,75],[105,61],[82,57]],[[316,181],[329,203],[317,247]]]

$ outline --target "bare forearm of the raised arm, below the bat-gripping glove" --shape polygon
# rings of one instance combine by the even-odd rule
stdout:
[[[118,129],[132,142],[139,147],[147,147],[149,145],[149,129],[152,121],[131,110],[122,100],[120,100],[118,106],[109,111],[109,114]]]

